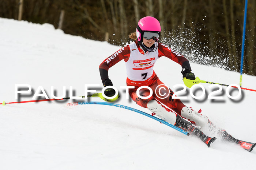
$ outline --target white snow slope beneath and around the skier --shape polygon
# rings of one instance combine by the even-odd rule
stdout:
[[[15,84],[30,84],[34,92],[42,86],[49,98],[51,86],[57,96],[61,96],[63,86],[67,90],[72,86],[74,95],[84,95],[84,84],[100,84],[95,88],[101,92],[98,66],[119,49],[106,42],[64,34],[50,24],[0,18],[0,103],[18,101]],[[124,67],[122,61],[109,70],[121,95],[116,103],[150,113],[126,99],[119,88],[126,86]],[[237,72],[194,63],[191,67],[200,79],[239,84]],[[165,57],[155,64],[155,72],[171,88],[183,84],[180,71],[180,65]],[[209,84],[201,84],[209,94]],[[255,89],[255,84],[255,76],[243,76],[243,87]],[[214,101],[195,100],[187,93],[184,103],[195,110],[201,108],[202,114],[233,137],[256,142],[256,92],[243,91],[243,98],[232,101],[225,91],[223,87],[219,93],[222,100]],[[33,100],[33,95],[23,95],[20,100]],[[82,101],[102,102],[97,97]],[[218,139],[208,148],[199,139],[136,112],[102,105],[66,107],[68,102],[74,101],[0,106],[2,170],[255,169],[256,149],[249,153]]]

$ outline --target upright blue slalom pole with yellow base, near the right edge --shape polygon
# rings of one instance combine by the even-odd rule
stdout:
[[[246,15],[247,15],[247,0],[245,0],[244,7],[244,28],[242,37],[242,52],[241,52],[241,66],[240,66],[240,87],[242,86],[242,74],[243,74],[243,64],[244,64],[244,43],[245,43],[245,30],[246,30]]]

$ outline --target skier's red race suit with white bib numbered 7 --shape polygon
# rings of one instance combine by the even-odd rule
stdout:
[[[109,56],[99,66],[102,82],[104,83],[106,80],[109,80],[109,68],[124,59],[127,70],[127,86],[135,86],[134,89],[129,89],[129,95],[131,96],[132,100],[140,106],[146,108],[147,103],[150,100],[158,100],[180,115],[181,109],[185,105],[180,101],[180,99],[172,98],[173,91],[171,89],[167,89],[166,86],[163,86],[165,88],[161,88],[160,86],[161,94],[169,94],[169,96],[164,99],[158,97],[161,96],[158,94],[158,90],[156,91],[157,94],[155,93],[157,86],[164,83],[158,79],[158,76],[155,74],[153,68],[157,59],[162,56],[166,56],[167,58],[180,64],[182,68],[189,68],[189,70],[191,70],[189,62],[184,56],[170,49],[165,44],[156,42],[155,46],[158,47],[156,51],[146,52],[146,54],[144,54],[143,50],[138,45],[138,41],[134,41],[133,43],[128,44],[126,47],[121,48],[113,55]],[[148,99],[139,98],[136,94],[136,90],[140,86],[150,87],[153,90],[153,95]],[[141,96],[148,96],[150,91],[146,88],[142,88],[139,94]]]

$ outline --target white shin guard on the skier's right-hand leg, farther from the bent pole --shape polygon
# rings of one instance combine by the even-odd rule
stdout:
[[[192,110],[189,107],[183,107],[181,110],[181,116],[195,122],[197,126],[205,127],[208,124],[208,118],[205,115],[200,114],[199,112],[196,112]]]

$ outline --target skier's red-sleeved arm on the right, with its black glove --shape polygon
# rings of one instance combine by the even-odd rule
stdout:
[[[173,60],[174,62],[178,63],[182,67],[182,75],[183,78],[186,77],[187,79],[195,79],[195,75],[188,74],[191,73],[191,67],[189,64],[188,59],[186,59],[184,56],[182,56],[180,53],[172,50],[171,48],[167,47],[165,44],[158,43],[158,57],[166,56],[167,58]]]

